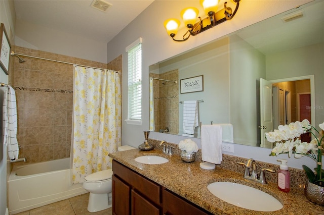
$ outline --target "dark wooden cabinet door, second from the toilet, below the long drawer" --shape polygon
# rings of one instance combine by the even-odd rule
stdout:
[[[155,207],[136,191],[132,190],[132,215],[159,215],[159,208]]]

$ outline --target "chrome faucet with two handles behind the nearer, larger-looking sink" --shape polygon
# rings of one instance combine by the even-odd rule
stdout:
[[[237,164],[245,166],[245,172],[244,172],[243,178],[257,181],[261,184],[267,184],[267,180],[265,178],[264,171],[268,171],[271,173],[275,172],[270,169],[261,169],[260,178],[258,178],[257,166],[256,166],[255,160],[253,158],[248,159],[246,163],[237,162]],[[252,168],[252,171],[251,171],[251,168]]]

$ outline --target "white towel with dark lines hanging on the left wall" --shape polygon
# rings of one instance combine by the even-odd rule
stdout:
[[[10,159],[17,159],[19,147],[17,141],[17,104],[15,90],[8,86],[3,103],[4,144],[8,146]]]

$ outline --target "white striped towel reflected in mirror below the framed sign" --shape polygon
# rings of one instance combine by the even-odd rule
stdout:
[[[183,133],[193,134],[194,128],[198,123],[198,106],[197,101],[183,102]]]

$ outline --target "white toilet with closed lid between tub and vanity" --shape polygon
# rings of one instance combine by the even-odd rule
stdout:
[[[134,149],[129,145],[118,147],[118,151]],[[90,192],[88,211],[96,212],[111,207],[112,204],[112,170],[102,170],[86,176],[83,188]]]

